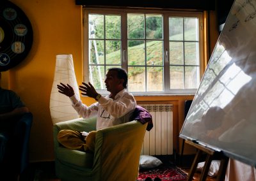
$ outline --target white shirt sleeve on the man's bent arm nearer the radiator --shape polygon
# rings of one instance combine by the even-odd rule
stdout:
[[[136,107],[136,101],[132,94],[129,94],[129,92],[125,92],[124,96],[118,99],[118,101],[101,96],[98,102],[100,103],[100,106],[104,108],[104,110],[115,118],[124,116],[126,113],[134,110]]]

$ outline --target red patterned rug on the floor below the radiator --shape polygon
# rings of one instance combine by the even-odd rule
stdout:
[[[188,175],[176,166],[161,164],[157,168],[151,170],[140,170],[137,181],[143,181],[150,177],[152,180],[159,177],[162,181],[186,180]]]

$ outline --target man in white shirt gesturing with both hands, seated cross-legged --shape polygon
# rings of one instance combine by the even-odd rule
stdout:
[[[81,100],[76,98],[74,90],[70,85],[60,83],[60,85],[58,85],[58,89],[61,94],[65,94],[70,98],[72,106],[81,117],[88,118],[97,116],[96,129],[99,130],[104,127],[129,122],[129,117],[136,108],[136,100],[131,93],[126,91],[127,80],[127,73],[124,69],[109,69],[106,75],[106,80],[104,81],[107,91],[110,92],[106,97],[97,93],[90,82],[88,84],[83,83],[83,85],[80,85],[79,90],[82,92],[82,95],[94,98],[97,101],[90,106],[84,105]],[[85,141],[81,134],[82,133],[78,131],[72,130],[60,131],[58,140],[65,147],[85,150]],[[76,141],[70,140],[70,138],[76,139]]]

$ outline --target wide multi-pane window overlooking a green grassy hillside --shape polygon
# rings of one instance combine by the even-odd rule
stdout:
[[[193,94],[202,77],[202,13],[84,9],[84,81],[106,92],[108,68],[134,94]]]

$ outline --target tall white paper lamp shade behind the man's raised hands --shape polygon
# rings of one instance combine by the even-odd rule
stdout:
[[[76,75],[73,65],[72,55],[56,55],[56,67],[54,73],[54,82],[52,83],[50,111],[52,124],[63,122],[65,120],[76,119],[79,117],[76,110],[72,107],[71,100],[68,96],[58,92],[57,85],[67,83],[73,87],[77,98],[79,96],[79,89],[76,81]]]

